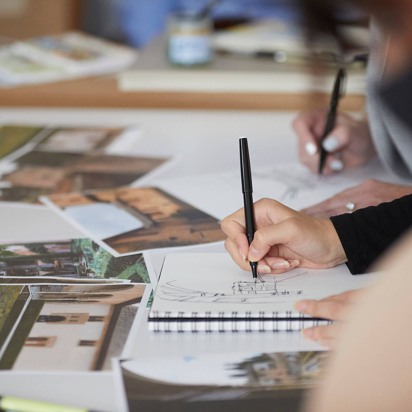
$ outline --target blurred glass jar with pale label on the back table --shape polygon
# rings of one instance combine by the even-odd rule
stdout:
[[[168,18],[168,59],[173,64],[195,66],[212,60],[212,27],[209,16],[178,12]]]

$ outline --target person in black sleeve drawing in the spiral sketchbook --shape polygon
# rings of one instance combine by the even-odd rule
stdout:
[[[302,4],[306,7],[312,31],[329,26],[333,34],[338,33],[334,20],[335,2],[302,0]],[[402,127],[405,137],[411,136],[412,2],[353,0],[353,4],[370,12],[381,27],[385,39],[382,44],[389,42],[382,82],[374,83],[371,92],[385,108],[382,115],[390,113],[393,122]],[[330,13],[324,12],[323,8]],[[410,156],[412,152],[401,154]],[[242,269],[250,271],[247,257],[258,262],[258,271],[262,273],[279,274],[297,266],[324,269],[346,263],[352,274],[361,274],[368,271],[370,265],[412,226],[412,194],[330,219],[305,215],[272,199],[257,201],[254,212],[257,230],[250,246],[243,209],[222,221],[222,229],[228,236],[225,247]],[[321,301],[304,300],[297,302],[296,309],[309,316],[344,321],[348,308],[362,300],[366,293],[365,290],[356,290]],[[303,333],[307,338],[331,347],[338,341],[340,326],[337,323],[309,328]]]

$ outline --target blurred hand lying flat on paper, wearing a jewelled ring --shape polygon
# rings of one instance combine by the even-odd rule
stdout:
[[[328,219],[330,216],[348,213],[349,210],[346,208],[348,203],[353,203],[353,210],[357,210],[390,202],[408,194],[412,194],[412,186],[395,185],[370,179],[358,186],[344,190],[322,203],[303,209],[301,212],[315,218]]]

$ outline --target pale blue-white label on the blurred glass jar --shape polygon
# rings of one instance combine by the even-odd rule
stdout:
[[[211,61],[210,35],[169,37],[169,60],[177,64],[199,64]]]

